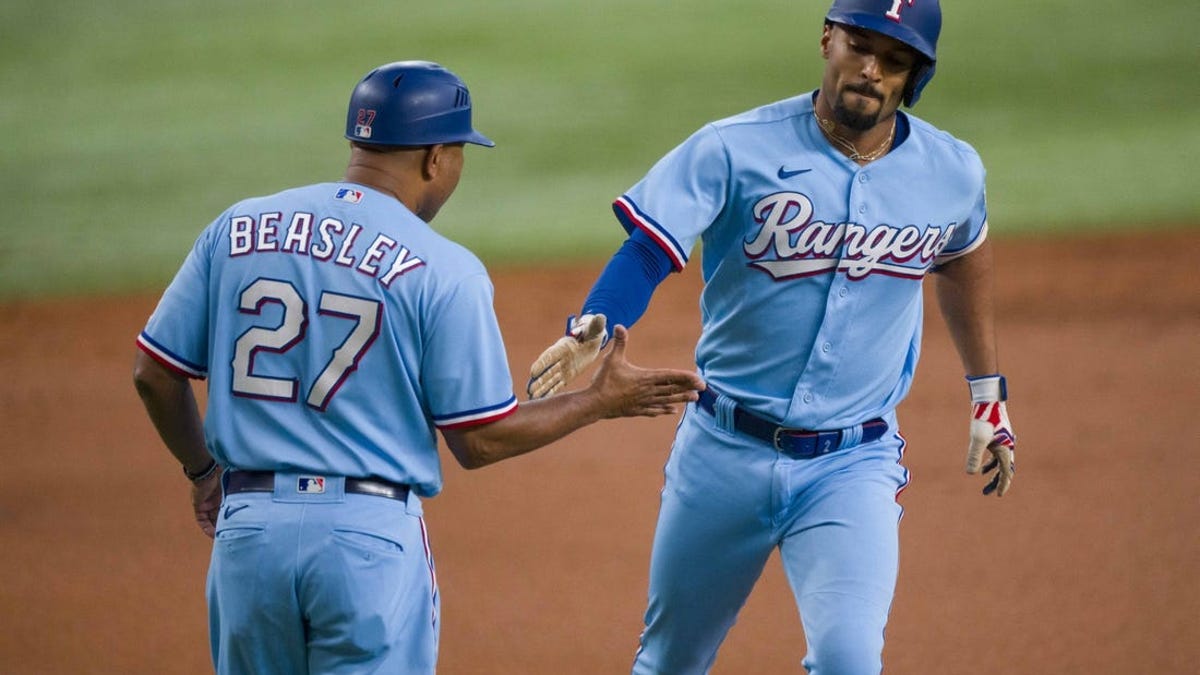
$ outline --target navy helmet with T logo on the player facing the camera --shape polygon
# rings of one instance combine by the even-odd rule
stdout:
[[[904,104],[917,104],[937,65],[937,35],[942,32],[937,0],[834,0],[826,20],[882,32],[925,56],[928,61],[917,67],[904,91]]]

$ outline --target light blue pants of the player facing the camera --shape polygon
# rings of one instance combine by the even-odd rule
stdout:
[[[898,573],[904,440],[790,459],[689,406],[666,465],[635,675],[708,673],[779,549],[812,675],[877,675]],[[752,631],[754,627],[748,627]]]

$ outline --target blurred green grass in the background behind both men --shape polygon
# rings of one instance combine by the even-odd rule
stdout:
[[[943,4],[916,112],[983,155],[997,235],[1200,223],[1200,5]],[[437,227],[492,265],[607,256],[611,199],[660,155],[816,86],[826,7],[7,0],[0,299],[156,289],[228,203],[338,178],[354,83],[414,58],[498,143]]]

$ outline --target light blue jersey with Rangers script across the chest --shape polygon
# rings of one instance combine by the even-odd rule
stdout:
[[[824,139],[812,101],[704,126],[616,209],[679,269],[702,244],[706,382],[785,425],[836,429],[907,394],[920,281],[984,241],[984,169],[911,115],[902,143],[859,166]]]

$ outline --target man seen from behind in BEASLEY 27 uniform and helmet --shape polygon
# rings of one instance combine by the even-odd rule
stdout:
[[[343,180],[245,199],[204,229],[137,339],[138,392],[215,537],[222,674],[433,673],[436,430],[474,468],[703,386],[630,365],[617,327],[586,389],[518,405],[487,271],[428,226],[464,144],[493,145],[466,84],[380,66],[346,137]],[[204,377],[202,429],[188,378]]]

